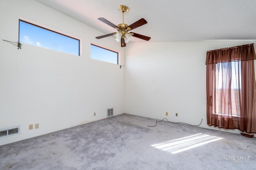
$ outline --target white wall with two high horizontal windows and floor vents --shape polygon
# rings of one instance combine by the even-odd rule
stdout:
[[[82,56],[2,41],[18,41],[19,18],[81,39]],[[93,17],[93,16],[92,16]],[[124,113],[124,69],[90,59],[90,43],[120,52],[114,38],[34,0],[0,2],[0,129],[21,126],[21,134],[0,145]],[[93,113],[96,112],[96,116]],[[39,123],[39,129],[28,130]]]

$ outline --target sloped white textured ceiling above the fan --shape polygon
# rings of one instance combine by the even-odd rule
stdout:
[[[144,18],[146,25],[133,32],[150,41],[204,41],[256,39],[256,0],[37,0],[104,33],[116,32],[99,21],[118,25]],[[95,35],[100,36],[100,35]],[[144,41],[133,37],[131,41]]]

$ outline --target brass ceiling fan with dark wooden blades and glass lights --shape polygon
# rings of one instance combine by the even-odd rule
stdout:
[[[121,41],[121,47],[126,47],[126,43],[128,43],[130,41],[132,36],[146,40],[146,41],[150,40],[150,37],[147,37],[145,35],[140,35],[138,33],[129,32],[132,29],[140,27],[148,22],[144,18],[141,18],[140,20],[132,23],[131,25],[127,25],[126,23],[124,23],[124,12],[128,12],[130,9],[124,5],[120,5],[120,6],[118,6],[118,8],[123,13],[123,23],[115,25],[114,23],[111,23],[110,21],[106,20],[105,18],[98,18],[98,20],[110,25],[111,27],[115,28],[118,32],[101,35],[101,36],[96,37],[96,39],[101,39],[101,38],[109,37],[111,35],[116,35],[116,41],[118,41],[118,43]]]

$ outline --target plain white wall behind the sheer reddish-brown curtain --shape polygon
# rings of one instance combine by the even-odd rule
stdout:
[[[256,41],[129,43],[125,113],[220,130],[206,123],[206,51],[248,43]]]

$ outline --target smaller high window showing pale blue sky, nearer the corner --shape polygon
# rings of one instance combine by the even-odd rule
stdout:
[[[118,64],[118,53],[95,45],[91,45],[91,58]]]

